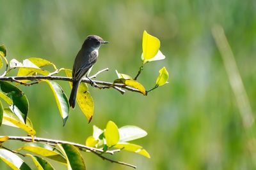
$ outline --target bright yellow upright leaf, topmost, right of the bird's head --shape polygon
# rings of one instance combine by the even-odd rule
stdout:
[[[143,32],[142,38],[142,51],[143,51],[143,62],[152,59],[157,54],[160,48],[160,41],[158,38],[150,35],[147,31]]]

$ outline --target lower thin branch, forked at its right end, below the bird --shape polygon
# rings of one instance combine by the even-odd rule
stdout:
[[[0,138],[3,138],[3,137],[5,137],[5,136],[0,136]],[[107,150],[107,151],[104,151],[104,150],[99,149],[99,148],[92,148],[90,146],[81,145],[79,143],[73,143],[73,142],[61,141],[61,140],[54,140],[54,139],[47,139],[47,138],[36,138],[36,137],[32,138],[30,136],[8,136],[8,140],[17,140],[17,141],[25,141],[25,142],[40,141],[40,142],[54,143],[54,144],[58,144],[58,143],[63,144],[63,143],[65,143],[65,144],[76,146],[77,148],[79,148],[82,151],[84,151],[84,149],[86,151],[90,151],[90,152],[94,153],[95,155],[99,156],[100,158],[102,158],[103,160],[108,160],[109,162],[112,162],[112,163],[121,164],[121,165],[124,165],[124,166],[129,166],[129,167],[136,168],[136,166],[133,166],[131,164],[127,164],[125,162],[120,162],[120,161],[112,160],[112,159],[109,159],[109,158],[104,157],[102,155],[102,153],[110,153],[111,155],[113,155],[114,152],[119,152],[120,150],[113,150],[113,151]]]

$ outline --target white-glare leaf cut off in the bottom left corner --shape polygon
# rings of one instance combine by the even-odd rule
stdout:
[[[8,166],[15,170],[28,170],[31,169],[24,160],[20,159],[14,153],[0,148],[0,159],[2,159]]]

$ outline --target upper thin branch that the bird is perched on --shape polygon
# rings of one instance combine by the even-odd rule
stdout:
[[[70,77],[65,77],[65,76],[6,76],[6,77],[0,77],[0,80],[2,81],[15,81],[15,82],[20,82],[17,80],[31,80],[31,81],[38,81],[38,80],[61,80],[61,81],[72,81],[72,78]],[[88,79],[88,78],[84,78],[82,80],[82,82],[84,83],[88,83],[91,84],[92,82]],[[122,94],[124,94],[124,90],[122,89],[126,89],[129,90],[131,92],[138,92],[140,94],[142,94],[142,92],[140,92],[140,90],[134,89],[132,87],[123,85],[123,84],[113,84],[111,82],[108,81],[99,81],[99,80],[93,80],[93,82],[95,82],[98,85],[104,85],[106,87],[101,87],[99,89],[106,89],[106,88],[113,88],[118,90],[119,92],[121,92]],[[33,84],[33,83],[32,83]],[[24,85],[22,83],[22,85]],[[25,85],[31,85],[26,83]],[[122,89],[120,89],[122,88]]]

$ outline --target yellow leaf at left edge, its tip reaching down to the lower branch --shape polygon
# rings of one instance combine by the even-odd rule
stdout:
[[[24,122],[21,121],[20,118],[17,117],[17,115],[15,115],[10,109],[4,109],[3,124],[20,128],[28,132],[30,135],[36,134],[36,131],[33,129],[33,125],[29,118],[27,118],[26,124],[24,124]]]

